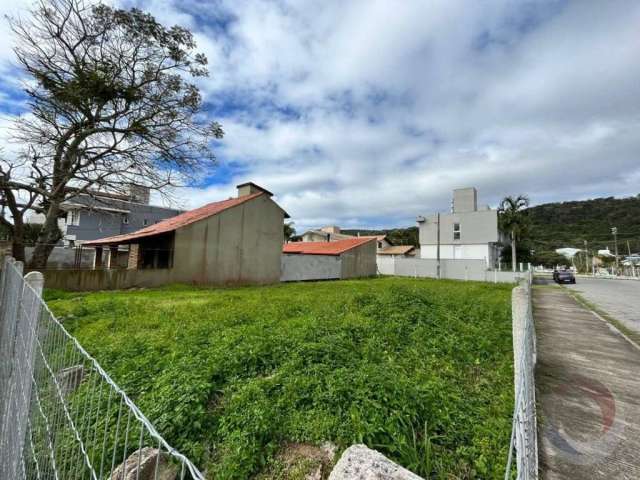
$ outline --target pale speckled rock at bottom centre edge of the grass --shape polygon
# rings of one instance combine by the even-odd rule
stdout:
[[[347,448],[329,480],[423,480],[365,445]]]

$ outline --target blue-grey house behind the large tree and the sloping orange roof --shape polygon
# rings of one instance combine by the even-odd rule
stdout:
[[[132,185],[129,195],[107,192],[82,193],[62,203],[65,216],[58,226],[64,246],[82,245],[88,240],[135,232],[182,213],[181,210],[149,204],[150,190]],[[42,223],[44,216],[32,215],[30,223]]]

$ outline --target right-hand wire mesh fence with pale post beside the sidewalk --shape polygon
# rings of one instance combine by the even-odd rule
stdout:
[[[513,367],[515,406],[509,458],[504,478],[512,478],[515,450],[518,480],[538,478],[538,433],[536,421],[536,334],[531,299],[532,275],[529,272],[513,289]]]

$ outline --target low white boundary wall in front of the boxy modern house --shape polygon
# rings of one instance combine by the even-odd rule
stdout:
[[[377,263],[378,271],[382,275],[437,278],[436,260],[406,257],[386,259],[378,257]],[[442,260],[440,262],[440,278],[511,283],[525,275],[526,272],[516,273],[514,276],[513,272],[487,270],[484,260]]]

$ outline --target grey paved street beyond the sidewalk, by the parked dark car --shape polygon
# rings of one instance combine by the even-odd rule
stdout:
[[[640,333],[640,281],[578,278],[569,288],[627,328]]]

